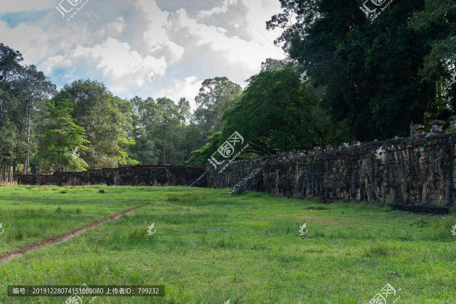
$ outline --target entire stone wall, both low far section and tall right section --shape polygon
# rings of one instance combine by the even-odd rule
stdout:
[[[53,175],[19,175],[29,185],[190,185],[204,172],[206,187],[233,187],[254,169],[262,168],[261,191],[273,195],[326,201],[370,201],[413,205],[407,210],[433,206],[446,211],[456,206],[456,132],[445,134],[443,121],[432,121],[430,133],[423,125],[411,126],[411,137],[386,141],[316,147],[238,160],[221,173],[212,166],[121,166]],[[450,118],[456,126],[456,117]],[[420,209],[421,208],[421,209]],[[405,208],[406,209],[406,208]]]

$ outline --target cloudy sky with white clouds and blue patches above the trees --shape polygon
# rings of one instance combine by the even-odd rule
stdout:
[[[0,0],[0,42],[58,89],[90,78],[121,98],[185,97],[195,109],[205,79],[245,87],[262,61],[285,57],[281,29],[265,29],[280,12],[279,0]]]

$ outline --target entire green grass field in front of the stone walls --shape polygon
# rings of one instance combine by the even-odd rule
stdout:
[[[0,255],[151,203],[0,263],[0,302],[64,303],[67,297],[8,297],[6,289],[85,283],[165,285],[164,297],[85,299],[93,304],[365,304],[389,283],[397,293],[388,304],[456,304],[455,216],[227,192],[0,187]],[[148,236],[153,222],[157,232]]]

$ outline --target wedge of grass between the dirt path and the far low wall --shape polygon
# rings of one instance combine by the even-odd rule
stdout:
[[[0,255],[154,200],[159,196],[151,194],[153,189],[136,193],[106,186],[2,186],[0,222],[5,231],[0,237]]]

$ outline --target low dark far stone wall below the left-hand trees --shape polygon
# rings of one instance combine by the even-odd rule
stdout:
[[[23,185],[118,185],[171,186],[190,185],[201,176],[205,167],[199,166],[121,166],[115,169],[84,172],[54,172],[52,175],[19,175]]]

